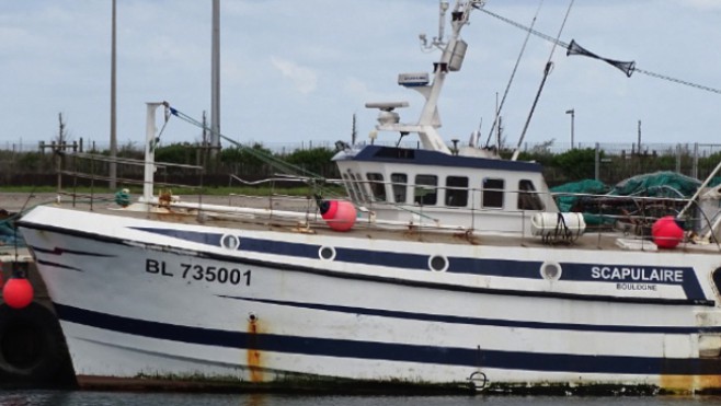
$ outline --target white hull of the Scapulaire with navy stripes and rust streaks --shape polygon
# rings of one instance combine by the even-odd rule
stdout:
[[[408,241],[49,207],[23,218],[22,230],[81,381],[453,386],[482,372],[490,387],[502,390],[720,386],[721,361],[699,358],[699,336],[721,333],[721,312],[703,277],[718,260],[713,255],[604,258],[605,267],[632,265],[649,278],[662,264],[683,274],[683,283],[633,282],[655,290],[627,290],[592,276],[548,281],[535,270],[524,275],[529,264],[550,260],[573,279],[574,267],[586,262],[602,278],[603,253],[580,250],[559,250],[568,258],[559,260],[542,248],[434,244],[449,265],[432,271],[413,262],[433,253]],[[239,237],[238,247],[232,240],[221,246],[228,234]],[[333,247],[334,258],[319,258],[321,247]],[[398,258],[408,263],[392,263]],[[507,276],[483,270],[496,263]]]

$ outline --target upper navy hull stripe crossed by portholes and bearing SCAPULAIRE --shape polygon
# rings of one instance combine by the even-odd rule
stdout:
[[[174,229],[158,228],[134,228],[135,230],[161,234],[174,239],[191,241],[211,246],[220,246],[222,234],[203,233],[194,231],[182,231]],[[319,258],[320,245],[289,243],[274,240],[260,240],[241,237],[239,251],[258,252],[263,254],[275,254],[301,258]],[[428,268],[428,255],[404,254],[396,252],[378,252],[371,250],[335,248],[335,260],[351,264],[363,264],[371,266],[386,266],[402,269],[431,271]],[[478,259],[465,257],[449,257],[447,272],[471,274],[483,276],[497,276],[510,278],[542,279],[540,274],[542,263],[538,260],[513,260],[513,259]],[[680,286],[686,293],[686,299],[691,301],[707,300],[703,290],[696,277],[693,267],[673,267],[683,275],[683,280],[630,280],[630,279],[594,279],[592,267],[602,267],[603,263],[575,264],[561,263],[562,280],[588,281],[596,283],[653,283]],[[648,268],[650,274],[652,267],[639,265],[613,265],[615,268]],[[668,267],[672,268],[672,267]]]

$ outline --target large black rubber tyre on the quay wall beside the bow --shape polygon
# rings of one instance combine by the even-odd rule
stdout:
[[[47,382],[69,363],[57,317],[32,302],[24,309],[0,305],[0,373],[25,382]]]

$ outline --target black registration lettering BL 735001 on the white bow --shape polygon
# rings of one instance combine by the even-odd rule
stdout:
[[[180,264],[180,271],[170,271],[164,260],[146,259],[146,272],[165,277],[180,276],[182,279],[205,280],[207,282],[250,286],[252,271],[238,268]]]

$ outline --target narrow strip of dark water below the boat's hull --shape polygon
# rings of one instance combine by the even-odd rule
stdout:
[[[721,405],[718,396],[659,396],[659,397],[557,397],[557,396],[298,396],[263,394],[187,394],[145,392],[87,392],[87,391],[2,391],[0,406],[35,405],[153,405],[153,406],[515,406],[515,405]]]

